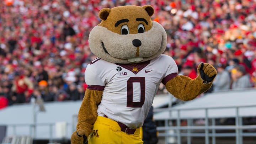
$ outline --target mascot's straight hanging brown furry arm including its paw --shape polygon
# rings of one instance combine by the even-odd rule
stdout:
[[[71,136],[71,144],[83,144],[88,140],[97,119],[97,108],[102,94],[103,91],[86,89],[78,112],[76,131]]]

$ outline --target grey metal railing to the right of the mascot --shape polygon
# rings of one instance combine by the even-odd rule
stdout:
[[[168,144],[168,139],[170,137],[175,138],[177,144],[181,144],[181,137],[187,137],[187,144],[191,144],[191,137],[205,137],[205,144],[209,144],[209,137],[212,137],[212,144],[216,144],[216,137],[235,137],[236,144],[243,143],[243,137],[255,137],[256,132],[243,132],[243,130],[256,130],[255,125],[243,125],[242,118],[245,116],[241,116],[239,110],[245,107],[254,107],[256,105],[249,105],[249,106],[227,106],[227,107],[206,107],[206,108],[155,108],[154,114],[159,112],[177,112],[175,117],[168,117],[168,118],[160,118],[157,117],[155,121],[164,121],[164,126],[158,127],[159,137],[165,138],[165,144]],[[209,117],[209,110],[213,109],[226,109],[226,108],[233,108],[235,110],[235,116],[229,117],[235,119],[235,125],[233,126],[217,126],[215,124],[215,120],[222,117]],[[205,116],[202,117],[204,119],[204,126],[194,126],[193,120],[197,118],[184,118],[181,117],[180,114],[182,111],[191,111],[191,110],[204,110]],[[255,116],[256,117],[256,116]],[[187,126],[181,126],[181,120],[187,121]],[[176,121],[176,126],[170,126],[170,122]],[[212,123],[209,124],[209,121]],[[170,133],[170,130],[174,130],[174,133]],[[192,130],[204,130],[204,133],[195,133]],[[217,133],[216,130],[235,130],[234,133]],[[186,131],[186,132],[182,132]],[[211,132],[211,133],[210,133]]]

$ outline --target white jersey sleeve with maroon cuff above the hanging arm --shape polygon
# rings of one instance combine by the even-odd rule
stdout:
[[[98,63],[90,63],[85,70],[85,82],[88,85],[87,89],[90,90],[104,90],[105,79],[103,78],[101,67]]]

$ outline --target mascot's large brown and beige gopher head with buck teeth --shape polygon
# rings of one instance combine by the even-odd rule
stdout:
[[[102,20],[89,35],[89,46],[97,57],[112,63],[140,63],[158,57],[166,48],[164,28],[151,20],[154,9],[145,6],[103,8]]]

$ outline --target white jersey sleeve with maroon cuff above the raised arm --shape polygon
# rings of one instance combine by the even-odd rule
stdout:
[[[162,83],[165,85],[170,79],[175,78],[178,75],[178,66],[175,63],[174,59],[169,56],[164,56],[164,61],[166,62],[164,66],[167,67],[164,79]]]

